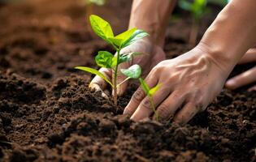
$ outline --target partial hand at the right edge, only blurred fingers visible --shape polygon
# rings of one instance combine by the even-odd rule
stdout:
[[[249,49],[239,64],[245,64],[249,62],[256,62],[256,48]],[[241,73],[240,75],[236,75],[232,79],[228,79],[227,83],[225,84],[226,87],[229,89],[236,89],[238,87],[245,86],[249,83],[254,83],[256,81],[256,66],[253,68]],[[256,91],[256,85],[250,87],[248,91]]]

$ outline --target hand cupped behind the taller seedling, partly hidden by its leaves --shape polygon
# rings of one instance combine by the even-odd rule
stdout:
[[[141,53],[138,56],[135,56],[132,61],[130,62],[123,62],[119,65],[120,69],[127,69],[129,66],[132,66],[133,64],[138,64],[141,66],[142,69],[142,75],[141,77],[144,78],[150,70],[158,64],[158,62],[161,62],[165,59],[165,53],[163,52],[163,49],[159,47],[158,45],[154,45],[150,40],[138,40],[136,43],[129,45],[128,47],[121,50],[121,53],[131,53],[131,52],[138,52]],[[106,75],[108,79],[112,79],[113,71],[111,69],[101,68],[100,71]],[[126,77],[118,71],[118,78],[117,83],[121,83]],[[98,75],[96,75],[91,83],[89,84],[89,87],[92,89],[95,89],[96,91],[101,91],[102,96],[106,97],[106,94],[108,93],[106,91],[106,82],[100,78]],[[117,94],[118,96],[122,96],[128,86],[128,82],[122,83],[117,88]]]

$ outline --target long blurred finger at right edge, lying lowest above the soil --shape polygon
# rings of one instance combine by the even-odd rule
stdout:
[[[229,89],[236,89],[238,87],[245,86],[246,84],[256,81],[256,66],[254,68],[245,71],[241,75],[237,75],[232,79],[229,79],[225,84]]]

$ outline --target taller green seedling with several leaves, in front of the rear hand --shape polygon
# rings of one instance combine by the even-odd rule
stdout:
[[[132,45],[137,40],[148,36],[148,34],[142,30],[137,28],[131,28],[128,31],[125,31],[117,36],[114,36],[111,24],[106,22],[106,20],[98,17],[97,15],[90,15],[89,21],[91,27],[93,28],[93,32],[95,32],[98,36],[100,36],[103,40],[105,40],[108,44],[112,45],[112,47],[116,50],[116,54],[113,55],[108,51],[99,51],[98,55],[95,58],[95,62],[98,66],[105,67],[111,69],[114,73],[112,76],[113,79],[108,79],[102,72],[95,70],[90,67],[85,66],[76,66],[76,69],[85,70],[93,75],[98,75],[102,79],[111,85],[113,93],[114,104],[117,105],[117,87],[119,87],[122,83],[127,81],[128,79],[138,79],[141,75],[141,67],[138,65],[130,66],[128,69],[123,69],[121,72],[128,76],[127,79],[122,83],[117,83],[118,67],[122,62],[129,62],[132,60],[132,57],[137,55],[138,53],[120,53],[121,49],[127,47],[128,45]]]

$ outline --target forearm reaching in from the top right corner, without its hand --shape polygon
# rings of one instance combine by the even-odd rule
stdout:
[[[254,0],[232,0],[208,28],[199,46],[205,46],[217,62],[232,70],[256,42],[255,8]]]

